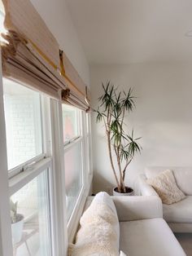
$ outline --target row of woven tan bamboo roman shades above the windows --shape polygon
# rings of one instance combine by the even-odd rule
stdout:
[[[2,0],[4,77],[87,110],[89,90],[29,0]]]

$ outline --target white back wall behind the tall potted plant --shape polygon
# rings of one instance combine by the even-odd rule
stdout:
[[[95,107],[101,82],[110,79],[124,90],[133,86],[137,108],[130,128],[142,136],[142,154],[129,167],[126,183],[135,185],[145,166],[192,166],[192,66],[190,64],[132,64],[91,67],[91,93]],[[95,126],[94,191],[107,190],[115,180],[107,156],[102,125]]]

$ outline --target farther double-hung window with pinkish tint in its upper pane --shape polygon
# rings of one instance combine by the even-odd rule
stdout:
[[[65,190],[68,220],[83,186],[82,113],[63,104]]]

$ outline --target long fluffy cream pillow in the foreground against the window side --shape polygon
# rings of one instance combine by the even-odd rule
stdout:
[[[116,206],[106,192],[99,192],[80,220],[72,256],[118,256],[120,226]]]

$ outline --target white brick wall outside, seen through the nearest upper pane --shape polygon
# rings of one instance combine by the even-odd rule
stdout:
[[[37,141],[37,134],[41,133],[41,127],[37,125],[40,121],[37,104],[39,100],[34,95],[5,96],[9,169],[39,154],[41,141]]]

